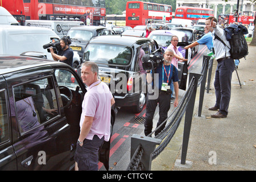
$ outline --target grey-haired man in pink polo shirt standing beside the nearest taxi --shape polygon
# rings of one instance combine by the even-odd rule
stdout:
[[[82,102],[80,135],[75,154],[76,169],[98,170],[98,150],[110,139],[111,106],[115,103],[108,85],[98,80],[98,65],[85,62],[82,82],[88,86]]]

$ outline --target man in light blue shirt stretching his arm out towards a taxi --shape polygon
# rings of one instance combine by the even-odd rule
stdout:
[[[192,48],[197,45],[205,44],[207,45],[207,48],[211,51],[213,44],[212,44],[212,33],[207,30],[207,28],[204,28],[205,35],[201,37],[201,39],[197,40],[196,42],[193,42],[192,44],[189,44],[188,46],[185,46],[184,49]]]

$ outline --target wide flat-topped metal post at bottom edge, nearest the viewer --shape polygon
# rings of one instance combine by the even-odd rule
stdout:
[[[144,171],[151,170],[151,162],[152,162],[152,152],[155,150],[155,146],[162,142],[161,139],[144,137],[141,135],[133,134],[131,136],[131,158],[133,157],[134,152],[136,151],[139,144],[141,144],[144,149],[144,153],[142,155],[141,163],[143,164]]]

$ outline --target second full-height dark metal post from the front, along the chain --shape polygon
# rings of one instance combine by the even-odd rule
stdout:
[[[203,108],[205,82],[207,80],[209,60],[210,60],[210,56],[203,56],[203,62],[205,62],[205,69],[204,69],[204,73],[203,73],[203,80],[201,81],[201,85],[200,85],[199,109],[198,109],[199,117],[201,117],[202,108]],[[204,63],[203,63],[203,65],[204,65]]]

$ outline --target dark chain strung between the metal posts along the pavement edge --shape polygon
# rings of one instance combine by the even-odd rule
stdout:
[[[152,160],[154,160],[164,150],[164,148],[166,148],[167,144],[170,143],[170,140],[176,133],[176,130],[179,127],[184,114],[186,113],[186,110],[189,105],[189,101],[195,102],[195,95],[194,95],[196,94],[195,87],[199,86],[203,80],[205,81],[204,78],[206,78],[207,71],[209,69],[208,67],[210,66],[208,63],[209,63],[209,60],[205,58],[203,61],[203,66],[201,68],[200,73],[197,73],[197,76],[196,76],[197,78],[195,78],[195,76],[192,75],[188,85],[188,89],[183,94],[183,97],[179,102],[179,105],[176,107],[176,109],[172,111],[170,116],[168,116],[168,118],[160,126],[158,126],[158,128],[156,128],[154,131],[152,131],[152,133],[147,135],[147,137],[151,137],[151,135],[155,133],[155,131],[158,130],[159,127],[166,124],[164,129],[160,131],[158,135],[155,136],[155,139],[160,139],[160,142],[158,147],[156,147],[155,150],[153,148],[154,151],[152,150],[153,151],[152,158],[151,158]],[[203,83],[205,84],[205,82]],[[191,100],[192,95],[193,95],[193,99]],[[192,110],[193,110],[193,107],[192,107]],[[170,120],[170,117],[172,117],[171,120]],[[146,148],[143,148],[142,145],[139,144],[136,151],[133,154],[133,157],[130,160],[129,166],[126,169],[127,171],[145,170],[145,167],[141,162],[141,159],[143,158],[144,150],[146,150]],[[147,160],[151,160],[151,159],[147,159]],[[148,169],[146,168],[146,170]]]

